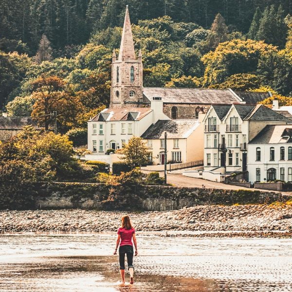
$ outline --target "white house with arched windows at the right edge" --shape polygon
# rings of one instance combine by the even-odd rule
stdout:
[[[292,182],[292,125],[268,125],[248,144],[251,182]]]

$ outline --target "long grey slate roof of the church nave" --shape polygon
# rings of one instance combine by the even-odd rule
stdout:
[[[162,97],[164,103],[233,104],[241,102],[228,89],[145,87],[143,94],[150,101]]]

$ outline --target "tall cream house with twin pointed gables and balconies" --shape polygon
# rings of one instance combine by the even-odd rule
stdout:
[[[212,105],[204,123],[204,172],[209,180],[220,174],[247,170],[247,145],[267,124],[282,125],[285,116],[263,105]],[[189,173],[188,173],[189,176]],[[197,174],[194,175],[198,177]]]

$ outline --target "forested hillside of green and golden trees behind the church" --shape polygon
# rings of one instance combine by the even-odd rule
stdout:
[[[10,115],[56,110],[61,132],[85,135],[86,121],[109,105],[126,4],[144,86],[271,90],[292,105],[291,0],[1,4],[0,109]],[[50,119],[38,118],[46,127]]]

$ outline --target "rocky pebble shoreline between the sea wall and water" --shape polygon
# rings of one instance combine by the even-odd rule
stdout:
[[[125,212],[74,210],[0,211],[0,233],[114,232]],[[195,206],[130,213],[137,231],[200,231],[203,237],[292,237],[292,205]],[[240,232],[238,232],[240,231]],[[167,235],[167,233],[165,234]]]

